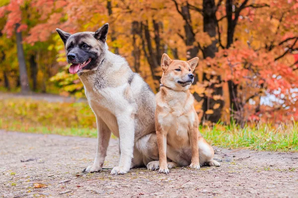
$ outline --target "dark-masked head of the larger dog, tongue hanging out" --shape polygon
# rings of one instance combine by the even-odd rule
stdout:
[[[108,23],[96,32],[79,32],[73,35],[56,29],[64,42],[67,62],[72,63],[70,73],[96,70],[100,66],[108,49],[105,43],[108,29]]]

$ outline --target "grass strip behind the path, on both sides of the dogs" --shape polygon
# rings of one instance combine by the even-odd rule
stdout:
[[[93,112],[87,103],[0,99],[0,129],[64,136],[97,136]],[[222,148],[298,151],[298,123],[273,126],[236,124],[200,127],[210,144]],[[115,138],[114,136],[112,136]]]

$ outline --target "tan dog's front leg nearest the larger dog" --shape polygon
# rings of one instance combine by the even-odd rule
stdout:
[[[156,131],[157,145],[159,152],[159,170],[160,173],[169,173],[166,160],[166,133],[162,130]]]

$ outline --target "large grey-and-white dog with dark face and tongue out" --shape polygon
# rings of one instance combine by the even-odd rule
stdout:
[[[98,131],[93,165],[84,172],[98,172],[103,166],[111,132],[119,138],[120,161],[111,174],[146,166],[158,159],[154,129],[154,94],[134,73],[126,60],[108,50],[106,23],[96,32],[71,35],[56,29],[65,44],[70,73],[77,73],[95,116]],[[133,160],[132,160],[133,158]]]

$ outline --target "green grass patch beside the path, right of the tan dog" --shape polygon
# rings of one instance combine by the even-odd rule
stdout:
[[[207,142],[222,148],[250,148],[254,150],[298,151],[298,123],[274,127],[267,124],[245,126],[216,125],[201,128]]]

